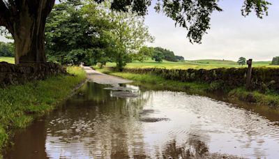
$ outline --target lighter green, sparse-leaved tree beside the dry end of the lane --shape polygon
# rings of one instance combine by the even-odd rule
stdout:
[[[112,60],[116,62],[116,69],[121,71],[144,43],[153,42],[153,37],[144,24],[144,17],[131,11],[112,11],[109,16],[114,26],[110,31]]]

